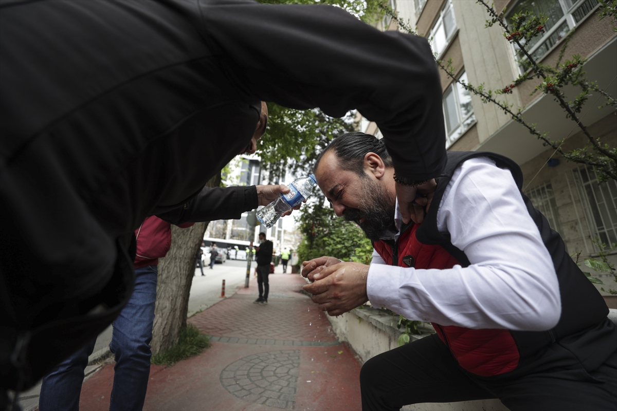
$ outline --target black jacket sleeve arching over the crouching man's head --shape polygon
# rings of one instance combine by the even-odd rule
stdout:
[[[442,91],[426,39],[381,32],[333,6],[198,5],[198,30],[246,97],[334,117],[357,109],[378,124],[399,176],[441,174]]]

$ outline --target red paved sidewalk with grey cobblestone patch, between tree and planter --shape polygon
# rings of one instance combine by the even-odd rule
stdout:
[[[304,283],[270,274],[268,305],[259,306],[252,277],[189,319],[212,347],[173,367],[152,365],[144,410],[359,410],[360,362],[299,292]],[[80,410],[109,409],[113,378],[106,365],[86,380]]]

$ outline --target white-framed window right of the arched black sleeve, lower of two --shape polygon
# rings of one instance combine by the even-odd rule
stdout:
[[[463,83],[468,83],[467,73],[463,72],[458,79]],[[470,92],[455,81],[444,92],[444,120],[446,148],[450,147],[453,142],[458,140],[458,137],[463,135],[463,132],[476,122]]]

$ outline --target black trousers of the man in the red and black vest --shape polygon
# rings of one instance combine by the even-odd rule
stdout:
[[[431,335],[368,360],[360,371],[363,410],[399,410],[420,402],[499,398],[516,410],[615,410],[617,353],[586,370],[560,344],[534,362],[537,372],[518,378],[476,378]]]

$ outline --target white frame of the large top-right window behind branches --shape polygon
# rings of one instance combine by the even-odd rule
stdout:
[[[572,4],[572,6],[568,6],[568,4],[566,3],[566,0],[557,0],[558,4],[561,7],[561,12],[563,12],[563,16],[561,16],[557,22],[555,22],[555,24],[550,28],[550,30],[547,30],[546,33],[544,33],[544,35],[542,35],[542,37],[540,38],[540,40],[534,44],[533,47],[531,47],[531,49],[529,49],[527,52],[529,53],[529,55],[533,55],[538,49],[540,49],[540,47],[544,46],[545,43],[547,43],[547,41],[550,40],[550,37],[555,34],[557,32],[557,30],[559,28],[561,28],[561,26],[563,25],[563,23],[565,22],[566,25],[568,25],[568,33],[570,31],[572,31],[574,28],[576,28],[577,26],[581,25],[583,22],[585,22],[587,20],[587,18],[589,18],[590,15],[594,14],[594,11],[598,9],[598,7],[600,6],[600,3],[597,2],[595,4],[595,6],[592,6],[589,11],[584,14],[578,22],[576,22],[576,18],[574,18],[574,14],[576,12],[578,12],[579,9],[582,9],[582,7],[584,6],[584,4],[586,2],[592,2],[592,1],[597,1],[597,0],[576,0],[574,1],[574,3]],[[520,1],[517,1],[515,6],[518,5]],[[512,7],[512,9],[514,9],[514,7]],[[510,17],[511,17],[511,12],[508,13],[506,20],[507,23],[509,25],[510,22]],[[567,36],[567,35],[566,35]],[[544,52],[544,54],[540,55],[539,57],[536,57],[537,61],[541,61],[542,59],[544,59],[544,57],[546,57],[547,55],[550,54],[550,52],[553,51],[553,49],[555,49],[555,47],[557,47],[561,41],[566,37],[563,36],[559,39],[557,39],[557,41],[555,41],[555,44],[553,44],[552,46],[550,46],[547,51]],[[526,55],[522,55],[522,57],[518,57],[518,50],[515,47],[514,43],[510,43],[510,47],[512,49],[512,54],[513,57],[515,59],[515,63],[518,66],[518,70],[519,72],[525,73],[527,71],[532,70],[531,67],[525,68],[524,62],[526,62],[528,60]]]

